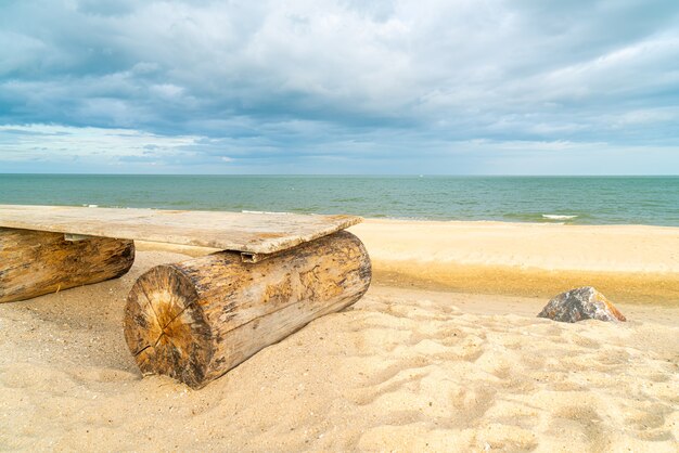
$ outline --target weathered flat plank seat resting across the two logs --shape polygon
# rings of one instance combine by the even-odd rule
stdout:
[[[359,223],[356,216],[0,205],[0,226],[272,254]]]

